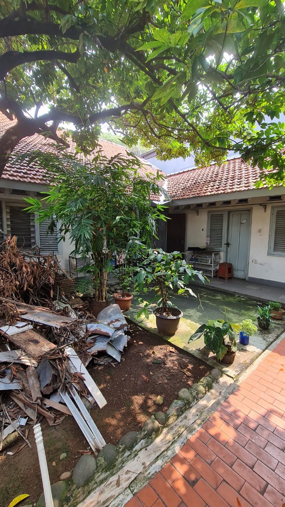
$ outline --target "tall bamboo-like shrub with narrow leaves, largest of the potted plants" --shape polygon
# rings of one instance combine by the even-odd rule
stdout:
[[[166,220],[161,205],[151,205],[150,193],[161,195],[161,175],[140,175],[136,158],[98,153],[84,164],[61,154],[35,154],[51,173],[52,186],[43,199],[26,198],[28,211],[39,223],[49,219],[48,231],[59,224],[60,239],[73,244],[72,255],[89,259],[84,271],[92,280],[91,310],[107,304],[107,276],[118,250],[131,255],[141,243],[150,246],[158,219]],[[164,192],[165,193],[165,192]],[[158,200],[158,197],[156,198]]]

